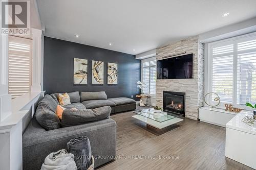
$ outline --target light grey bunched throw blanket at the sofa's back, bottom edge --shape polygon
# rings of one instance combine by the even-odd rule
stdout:
[[[48,155],[41,166],[41,170],[76,170],[74,155],[67,150],[59,150]]]

